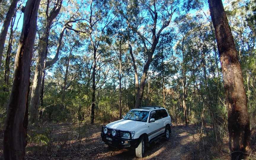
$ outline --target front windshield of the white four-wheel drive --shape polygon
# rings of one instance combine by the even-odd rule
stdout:
[[[147,122],[148,113],[148,111],[131,110],[124,117],[124,120],[136,120],[141,122]]]

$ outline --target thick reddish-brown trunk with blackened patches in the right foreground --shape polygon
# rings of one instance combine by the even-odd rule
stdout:
[[[250,121],[241,66],[221,0],[208,0],[220,55],[228,107],[228,132],[232,159],[246,159],[250,151]]]

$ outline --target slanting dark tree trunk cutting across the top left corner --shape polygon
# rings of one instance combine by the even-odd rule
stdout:
[[[8,32],[8,28],[10,25],[10,22],[12,20],[13,14],[15,13],[15,9],[17,6],[18,0],[13,0],[10,8],[6,14],[6,17],[4,19],[4,24],[2,26],[2,30],[0,33],[0,66],[1,66],[1,62],[2,62],[2,57],[3,57],[3,52],[4,52],[4,43],[5,43],[5,38]]]

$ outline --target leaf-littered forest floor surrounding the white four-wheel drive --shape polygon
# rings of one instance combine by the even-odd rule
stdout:
[[[133,150],[113,149],[102,143],[102,124],[79,127],[61,123],[45,126],[41,132],[35,132],[38,128],[30,128],[25,159],[139,159]],[[221,147],[213,147],[210,138],[199,138],[196,127],[192,125],[174,125],[171,130],[171,140],[157,140],[146,148],[142,159],[230,159],[227,141]],[[2,139],[1,135],[0,157],[3,154]],[[252,155],[250,158],[256,159]]]

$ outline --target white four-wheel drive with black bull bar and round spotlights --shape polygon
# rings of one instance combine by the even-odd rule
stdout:
[[[111,147],[135,148],[137,157],[144,156],[145,144],[161,136],[170,138],[172,120],[162,107],[143,107],[130,110],[121,120],[102,127],[102,141]]]

